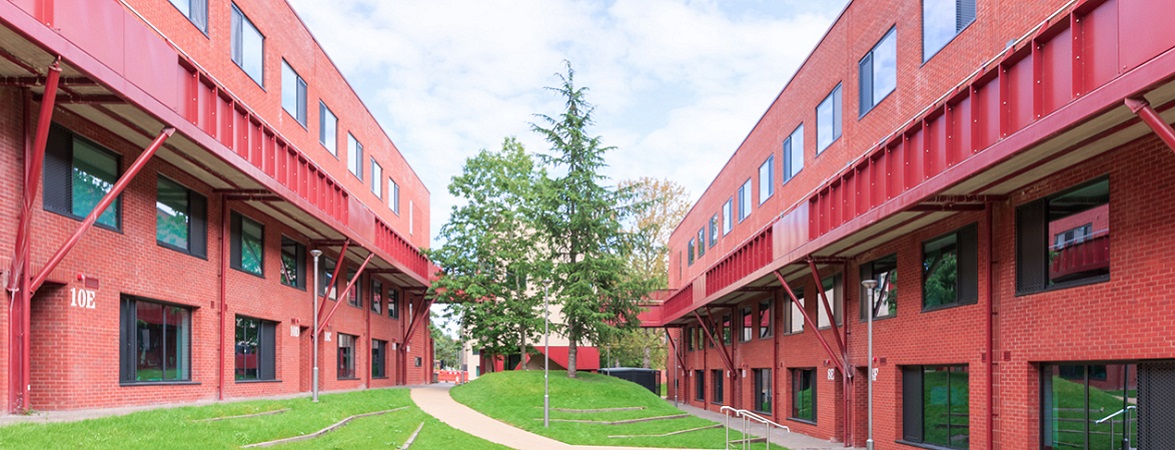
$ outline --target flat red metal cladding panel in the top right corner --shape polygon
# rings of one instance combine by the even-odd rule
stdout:
[[[1157,56],[1175,45],[1175,1],[1120,0],[1119,67],[1124,72]]]

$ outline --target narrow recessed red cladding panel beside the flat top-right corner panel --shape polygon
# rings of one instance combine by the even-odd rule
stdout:
[[[1116,2],[1116,0],[1109,1],[1085,16],[1077,18],[1081,32],[1077,39],[1082,43],[1081,78],[1085,82],[1085,86],[1080,87],[1081,93],[1104,85],[1120,73]]]

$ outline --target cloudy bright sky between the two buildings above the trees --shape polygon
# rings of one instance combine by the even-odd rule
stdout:
[[[618,149],[616,179],[650,175],[697,197],[844,5],[620,0],[290,0],[432,193],[431,233],[465,157],[518,136],[563,60]],[[822,4],[822,2],[821,2]],[[768,13],[764,13],[764,12]]]

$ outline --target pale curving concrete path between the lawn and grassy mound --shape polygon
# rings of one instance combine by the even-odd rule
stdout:
[[[631,449],[649,450],[646,448],[630,446],[590,446],[571,445],[543,437],[530,431],[525,431],[513,425],[498,422],[471,408],[457,403],[449,396],[452,384],[431,384],[427,387],[412,388],[412,402],[421,407],[424,412],[444,422],[449,427],[481,437],[485,441],[498,443],[513,449],[536,450],[605,450],[605,449]]]

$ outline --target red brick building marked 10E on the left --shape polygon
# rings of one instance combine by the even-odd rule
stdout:
[[[8,411],[309,391],[316,304],[428,382],[429,193],[286,1],[0,1],[0,172]]]

